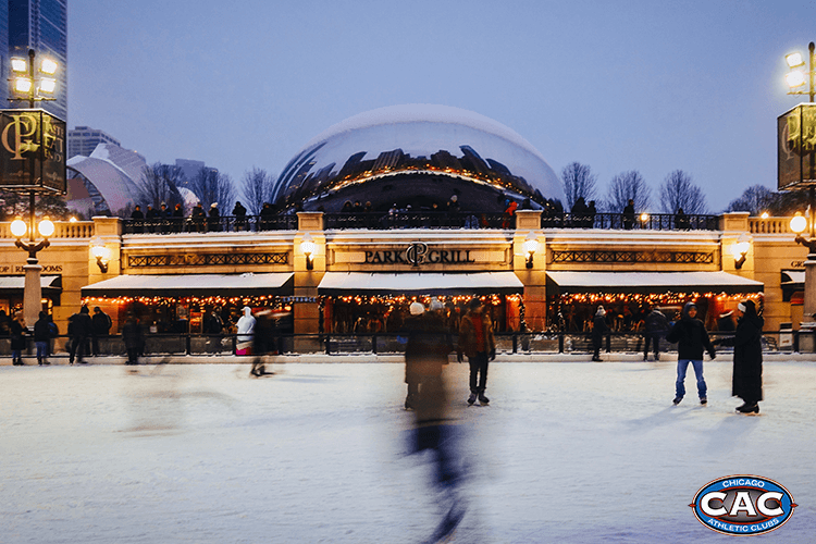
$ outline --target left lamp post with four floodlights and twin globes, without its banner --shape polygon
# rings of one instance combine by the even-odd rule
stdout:
[[[18,96],[9,98],[10,101],[27,101],[28,108],[34,109],[37,101],[53,100],[42,96],[42,94],[52,94],[57,87],[57,82],[52,77],[57,73],[58,65],[51,59],[42,59],[39,66],[36,62],[37,53],[34,49],[28,50],[28,59],[13,57],[11,59],[12,71],[12,90]],[[54,225],[44,217],[39,224],[36,223],[35,196],[37,190],[34,188],[37,184],[35,180],[35,166],[38,153],[36,148],[29,151],[28,160],[28,224],[17,217],[11,224],[11,232],[16,238],[15,245],[28,252],[28,259],[23,267],[25,270],[25,290],[23,295],[23,314],[25,324],[29,330],[34,329],[34,323],[39,319],[39,312],[42,310],[42,287],[40,285],[40,272],[42,267],[37,260],[37,252],[47,248],[51,243],[48,240],[54,233]],[[26,233],[28,239],[24,240]],[[37,233],[42,239],[37,240]]]

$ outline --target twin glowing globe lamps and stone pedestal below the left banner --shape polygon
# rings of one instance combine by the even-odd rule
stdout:
[[[36,232],[39,232],[42,236],[39,242],[37,242]],[[23,240],[26,233],[28,234],[28,240]],[[37,261],[37,251],[51,245],[48,238],[53,236],[53,233],[54,226],[48,215],[42,218],[39,224],[35,224],[34,207],[32,207],[28,224],[20,215],[11,222],[11,234],[16,238],[14,245],[23,251],[28,251],[28,259],[23,267],[23,270],[25,270],[23,316],[28,329],[34,329],[34,323],[39,319],[39,312],[42,310],[42,286],[39,281],[42,267]]]

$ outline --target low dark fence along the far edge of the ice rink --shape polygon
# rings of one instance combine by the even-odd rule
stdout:
[[[728,345],[733,334],[710,333],[718,351],[733,350]],[[591,333],[502,333],[496,334],[498,354],[590,354],[593,351]],[[28,341],[24,356],[34,357],[34,341]],[[404,339],[396,334],[281,334],[274,337],[277,354],[401,354]],[[456,336],[453,337],[456,345]],[[69,356],[67,336],[59,336],[51,342],[49,357]],[[210,355],[230,356],[235,354],[237,336],[234,334],[146,334],[144,355],[186,356]],[[96,347],[96,349],[95,349]],[[643,353],[644,337],[641,333],[609,333],[603,338],[602,350],[611,353]],[[671,353],[676,345],[660,339],[660,353]],[[816,353],[816,331],[769,331],[763,334],[763,350],[767,353]],[[88,339],[85,354],[100,356],[126,356],[122,336],[112,335]],[[10,339],[0,338],[0,356],[10,356]]]

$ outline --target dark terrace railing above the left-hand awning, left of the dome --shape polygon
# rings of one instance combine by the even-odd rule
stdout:
[[[123,219],[123,234],[296,231],[297,215]]]

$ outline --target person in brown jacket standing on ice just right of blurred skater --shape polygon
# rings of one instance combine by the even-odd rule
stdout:
[[[496,358],[496,341],[493,337],[493,325],[484,312],[479,298],[473,298],[469,305],[470,311],[462,318],[459,327],[459,343],[456,349],[457,359],[462,360],[462,354],[468,356],[470,364],[470,397],[468,404],[486,405],[490,399],[484,396],[487,387],[487,363]]]

